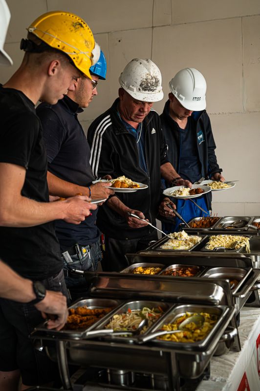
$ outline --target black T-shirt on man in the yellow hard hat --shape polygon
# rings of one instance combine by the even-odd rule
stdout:
[[[47,159],[39,118],[21,91],[0,86],[0,162],[26,169],[21,194],[48,202]],[[15,205],[14,205],[15,208]],[[0,258],[23,277],[43,280],[63,267],[54,223],[0,227]]]

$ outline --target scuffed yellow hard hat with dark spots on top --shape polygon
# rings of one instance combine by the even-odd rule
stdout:
[[[84,76],[91,79],[89,68],[98,61],[100,47],[81,18],[70,12],[51,11],[39,16],[27,30],[68,55]]]

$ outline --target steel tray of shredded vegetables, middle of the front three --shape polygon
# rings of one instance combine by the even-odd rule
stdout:
[[[148,307],[150,309],[160,307],[163,310],[163,313],[158,318],[158,320],[152,324],[152,326],[149,326],[149,327],[147,326],[145,328],[145,332],[142,335],[146,335],[149,332],[149,330],[154,325],[156,325],[162,317],[165,316],[167,311],[173,307],[173,304],[172,303],[148,301],[148,300],[131,301],[131,302],[123,304],[121,307],[119,307],[116,311],[113,312],[112,316],[107,317],[106,319],[104,319],[103,322],[99,323],[99,325],[97,325],[95,327],[95,330],[106,328],[106,326],[108,326],[109,322],[112,320],[113,316],[115,316],[115,315],[121,315],[123,313],[127,313],[129,310],[134,310],[134,309],[142,310],[142,308],[144,308],[144,307]],[[110,327],[108,327],[108,328],[110,328]],[[120,331],[120,330],[116,330],[116,331]],[[123,332],[124,331],[122,331],[122,334],[123,334]],[[125,342],[126,341],[132,342],[132,341],[136,340],[137,337],[138,337],[138,335],[136,335],[136,336],[135,335],[133,335],[133,336],[124,336],[124,335],[113,336],[112,334],[109,334],[108,336],[106,336],[106,338],[108,338],[108,339],[111,338],[113,341],[119,340],[119,341],[125,341]]]

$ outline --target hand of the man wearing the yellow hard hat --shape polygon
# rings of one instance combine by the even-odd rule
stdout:
[[[90,215],[90,210],[97,209],[97,205],[90,204],[89,197],[87,195],[77,195],[76,197],[70,197],[61,202],[64,205],[64,217],[67,223],[80,224]]]

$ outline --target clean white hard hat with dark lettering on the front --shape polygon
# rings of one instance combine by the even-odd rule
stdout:
[[[169,87],[185,109],[206,109],[207,84],[204,76],[195,68],[181,69],[169,83]]]

